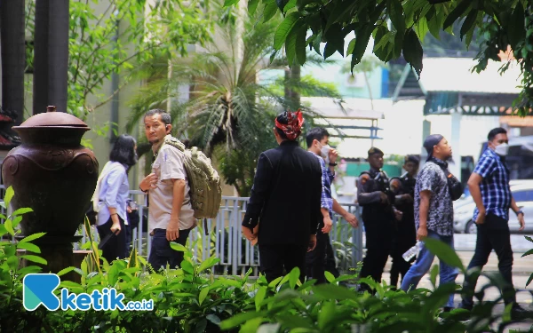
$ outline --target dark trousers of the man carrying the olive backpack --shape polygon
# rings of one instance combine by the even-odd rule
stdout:
[[[191,229],[179,230],[179,237],[176,241],[183,246],[187,243],[188,234]],[[167,264],[171,268],[176,268],[181,265],[183,261],[183,252],[172,250],[171,242],[166,239],[165,229],[154,229],[154,235],[152,236],[152,247],[150,249],[150,257],[148,263],[155,271],[159,271],[161,268],[165,268]]]

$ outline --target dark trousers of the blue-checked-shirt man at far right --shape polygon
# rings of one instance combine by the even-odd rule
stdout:
[[[489,260],[492,250],[497,254],[498,269],[502,277],[507,282],[507,286],[502,290],[505,304],[514,303],[513,289],[513,250],[511,249],[511,235],[509,234],[508,221],[494,214],[489,214],[485,218],[485,223],[477,225],[477,240],[475,252],[468,265],[468,269],[477,267],[482,269]],[[469,276],[463,284],[463,304],[473,305],[473,290],[477,283],[478,275]]]

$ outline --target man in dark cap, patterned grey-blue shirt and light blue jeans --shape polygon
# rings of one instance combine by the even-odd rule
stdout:
[[[427,151],[427,163],[418,173],[415,186],[415,224],[417,239],[424,241],[426,237],[440,240],[453,249],[453,191],[448,178],[454,178],[448,170],[446,161],[451,158],[451,147],[448,140],[440,134],[430,135],[424,141]],[[434,254],[421,246],[417,261],[405,274],[402,290],[416,288],[420,279],[429,271]],[[448,266],[441,261],[441,283],[454,283],[457,268]],[[453,308],[453,293],[449,295],[444,311]]]

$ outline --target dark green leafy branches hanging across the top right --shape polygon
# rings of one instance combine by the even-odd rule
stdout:
[[[237,0],[227,0],[235,4]],[[474,32],[480,51],[473,67],[478,73],[489,60],[500,61],[500,52],[512,57],[503,63],[521,67],[521,94],[514,102],[521,115],[530,113],[533,100],[533,4],[529,0],[249,0],[249,11],[262,11],[264,21],[282,12],[284,20],[274,35],[274,49],[287,53],[291,64],[306,62],[306,48],[324,59],[335,52],[351,56],[353,68],[362,60],[370,42],[378,59],[388,62],[401,56],[423,75],[427,34],[440,38],[442,31],[459,36],[468,47]],[[354,38],[345,47],[345,38]],[[321,52],[320,45],[325,43]],[[346,50],[346,53],[345,53]]]

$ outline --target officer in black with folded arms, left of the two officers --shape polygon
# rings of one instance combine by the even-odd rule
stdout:
[[[362,206],[362,222],[366,233],[366,257],[362,261],[361,277],[370,276],[381,282],[381,274],[392,250],[394,218],[402,218],[395,210],[395,195],[383,168],[383,152],[370,148],[370,170],[362,172],[357,182],[357,202]],[[368,289],[362,285],[362,289]]]

